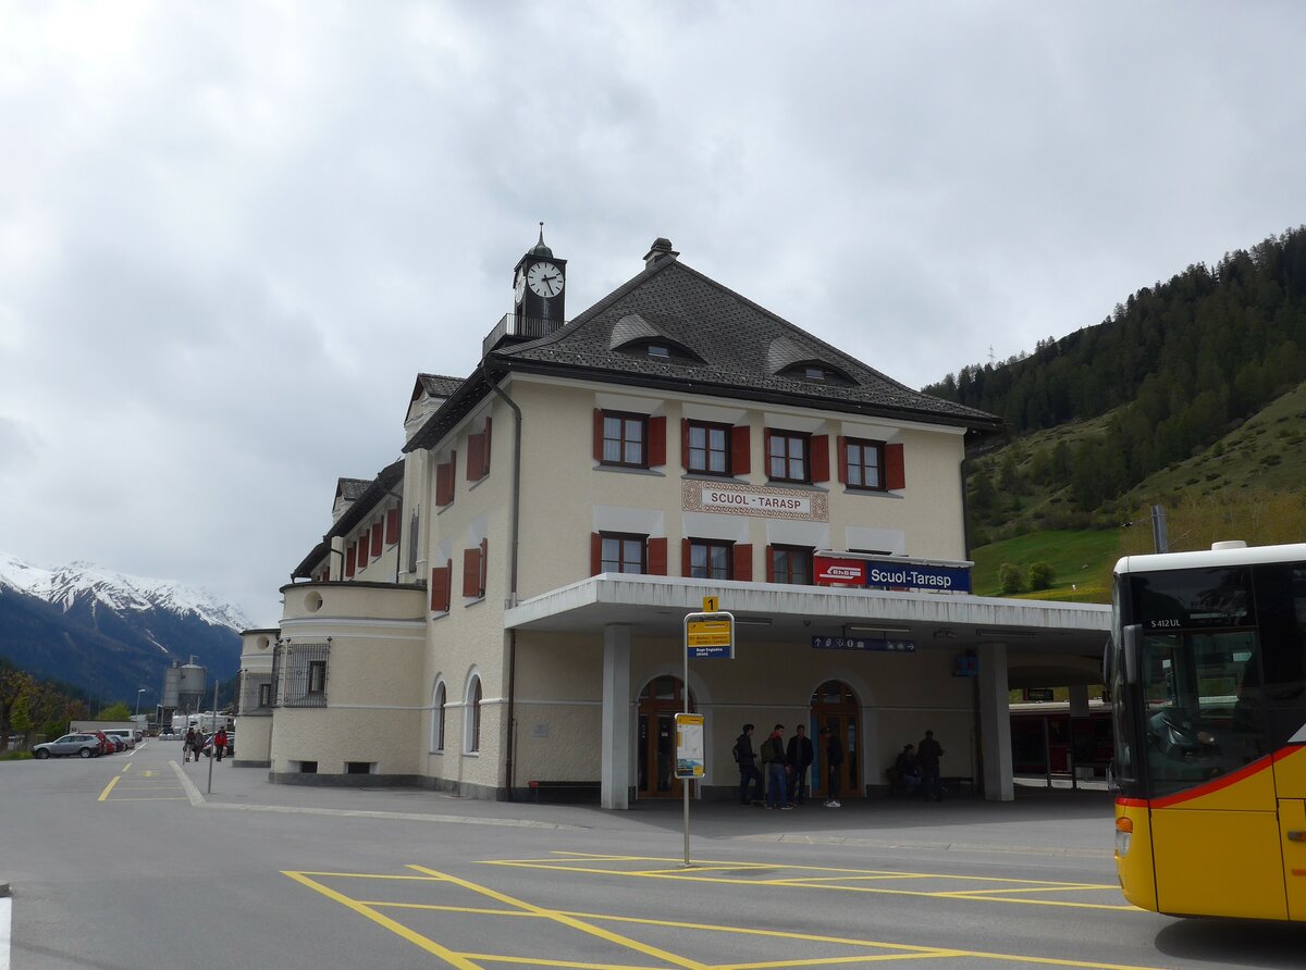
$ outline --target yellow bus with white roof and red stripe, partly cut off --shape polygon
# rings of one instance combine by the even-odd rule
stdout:
[[[1306,544],[1128,556],[1111,602],[1124,897],[1306,920]]]

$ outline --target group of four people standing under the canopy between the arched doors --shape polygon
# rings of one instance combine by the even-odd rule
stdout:
[[[811,766],[816,759],[807,728],[798,725],[794,736],[785,744],[785,726],[776,725],[760,751],[754,751],[754,725],[744,725],[743,732],[735,739],[734,759],[739,765],[739,802],[742,804],[763,804],[767,808],[788,811],[803,804],[810,794]],[[838,734],[828,727],[820,731],[820,742],[825,745],[825,807],[840,808],[840,778],[844,772],[844,745]],[[763,800],[763,774],[757,770],[757,760],[765,769],[765,800]],[[750,787],[752,792],[750,794]]]

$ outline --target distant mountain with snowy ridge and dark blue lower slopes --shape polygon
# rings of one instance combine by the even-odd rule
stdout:
[[[44,569],[0,554],[0,657],[97,697],[158,701],[163,671],[191,657],[219,681],[240,662],[239,607],[171,580],[71,563]]]

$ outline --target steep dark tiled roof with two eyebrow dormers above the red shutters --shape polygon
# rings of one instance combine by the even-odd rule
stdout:
[[[666,337],[701,362],[650,356],[629,339]],[[836,380],[785,376],[823,362]],[[498,369],[546,371],[622,384],[808,407],[996,428],[991,414],[922,394],[867,367],[674,258],[654,262],[556,333],[487,356]],[[840,377],[848,377],[844,383]]]

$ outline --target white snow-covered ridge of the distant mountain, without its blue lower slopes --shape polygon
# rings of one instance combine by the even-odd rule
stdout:
[[[0,586],[10,586],[65,611],[91,598],[116,611],[162,608],[182,616],[193,614],[214,627],[229,627],[238,632],[253,625],[239,607],[222,602],[206,590],[195,590],[175,580],[128,576],[91,563],[77,561],[59,569],[42,569],[0,552]]]

